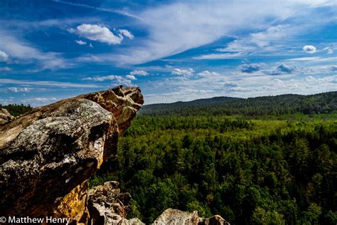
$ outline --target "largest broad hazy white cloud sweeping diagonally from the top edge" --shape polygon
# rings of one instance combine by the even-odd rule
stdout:
[[[280,5],[267,4],[267,1],[240,1],[235,5],[225,1],[199,1],[152,7],[139,14],[143,19],[141,25],[149,31],[146,40],[132,49],[101,57],[120,64],[139,64],[171,56],[211,43],[242,28],[260,27],[269,16],[286,19],[293,14],[294,10],[282,10],[284,6]],[[252,8],[256,10],[251,11]],[[246,14],[247,10],[251,13]]]

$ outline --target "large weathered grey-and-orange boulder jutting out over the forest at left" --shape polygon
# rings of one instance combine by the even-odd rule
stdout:
[[[87,183],[116,154],[118,136],[143,104],[119,86],[36,108],[0,126],[0,214],[85,214]]]

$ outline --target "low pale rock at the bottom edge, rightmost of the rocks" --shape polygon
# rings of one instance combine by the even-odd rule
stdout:
[[[166,209],[155,221],[154,225],[229,225],[221,216],[212,216],[208,219],[198,216],[198,211],[189,214],[178,209]]]

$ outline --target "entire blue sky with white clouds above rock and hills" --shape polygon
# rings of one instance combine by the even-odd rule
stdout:
[[[0,1],[0,103],[337,90],[336,0]]]

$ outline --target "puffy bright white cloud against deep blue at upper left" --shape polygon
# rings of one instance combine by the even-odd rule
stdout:
[[[86,24],[83,23],[80,26],[77,26],[75,29],[68,29],[70,33],[75,33],[82,38],[87,38],[91,41],[99,41],[102,43],[107,43],[109,45],[117,45],[122,43],[124,36],[127,38],[134,38],[132,33],[127,30],[118,30],[115,31],[117,34],[112,33],[106,26],[100,26],[97,24]]]

